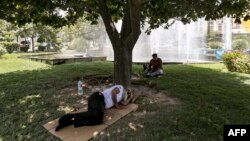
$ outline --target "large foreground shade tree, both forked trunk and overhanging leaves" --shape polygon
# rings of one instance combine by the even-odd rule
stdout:
[[[168,28],[175,20],[186,24],[201,17],[214,20],[231,16],[240,22],[241,18],[250,18],[248,9],[248,0],[1,0],[0,18],[19,25],[41,22],[62,27],[74,24],[83,15],[96,24],[101,16],[114,50],[114,82],[128,87],[132,51],[145,23],[150,33],[159,26]],[[119,19],[120,32],[114,24]]]

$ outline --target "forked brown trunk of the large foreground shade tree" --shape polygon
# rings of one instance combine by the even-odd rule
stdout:
[[[141,0],[126,0],[125,14],[119,33],[112,21],[105,0],[99,0],[99,13],[114,50],[114,83],[125,88],[131,85],[132,53],[140,30]]]

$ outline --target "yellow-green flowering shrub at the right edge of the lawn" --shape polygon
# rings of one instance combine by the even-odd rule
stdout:
[[[241,51],[225,53],[223,61],[231,72],[250,73],[250,58]]]

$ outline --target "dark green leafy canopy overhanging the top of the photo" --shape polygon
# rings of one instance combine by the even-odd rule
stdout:
[[[239,23],[241,18],[250,18],[249,0],[1,0],[0,19],[18,25],[41,22],[62,27],[83,15],[95,24],[105,13],[116,22],[124,17],[128,3],[141,7],[140,21],[149,23],[149,29],[168,27],[173,20],[189,23],[201,17],[213,20],[231,16]]]

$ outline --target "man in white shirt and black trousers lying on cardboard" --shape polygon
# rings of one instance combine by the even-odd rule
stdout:
[[[124,98],[127,95],[127,98]],[[104,109],[115,106],[116,108],[125,108],[124,106],[133,99],[131,90],[124,90],[122,85],[115,85],[103,92],[95,92],[88,99],[88,111],[80,113],[70,113],[63,115],[59,119],[59,125],[55,131],[74,125],[75,127],[85,125],[99,125],[103,123]]]

